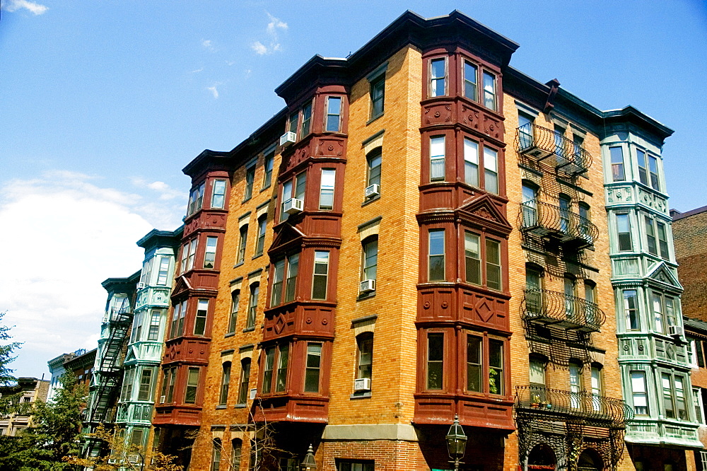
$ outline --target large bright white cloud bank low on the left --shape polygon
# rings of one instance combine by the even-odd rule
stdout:
[[[11,364],[21,376],[41,376],[46,362],[66,351],[96,347],[106,293],[101,281],[141,267],[136,241],[154,227],[175,229],[183,202],[144,204],[140,194],[100,185],[100,178],[54,171],[0,187],[0,310],[24,342]],[[174,192],[147,182],[160,194]],[[174,197],[176,199],[176,197]],[[169,226],[163,226],[169,224]]]

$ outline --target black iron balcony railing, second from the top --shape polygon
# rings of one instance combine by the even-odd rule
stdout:
[[[520,204],[520,230],[556,237],[575,249],[588,248],[599,237],[599,229],[589,219],[537,199]]]

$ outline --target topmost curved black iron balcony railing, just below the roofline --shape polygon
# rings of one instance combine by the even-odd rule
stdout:
[[[516,129],[518,152],[542,161],[555,156],[555,166],[569,175],[585,173],[592,165],[592,154],[559,132],[537,124],[523,124]]]

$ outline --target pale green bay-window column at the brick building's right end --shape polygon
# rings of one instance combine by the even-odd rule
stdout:
[[[661,156],[672,130],[632,107],[606,112],[604,126],[619,365],[635,415],[626,442],[636,469],[685,469],[685,450],[702,445]]]

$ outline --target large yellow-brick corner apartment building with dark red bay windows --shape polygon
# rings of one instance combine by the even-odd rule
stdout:
[[[624,332],[605,199],[617,165],[642,175],[612,150],[624,131],[671,131],[531,79],[517,48],[457,11],[404,13],[346,59],[310,59],[276,88],[284,110],[185,167],[154,449],[198,470],[296,470],[310,446],[320,470],[447,470],[458,416],[466,470],[694,468],[696,417],[658,417],[656,382],[658,439],[624,448],[647,392],[617,332],[685,349]]]

